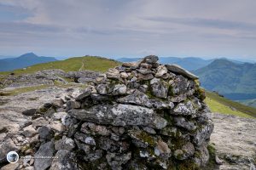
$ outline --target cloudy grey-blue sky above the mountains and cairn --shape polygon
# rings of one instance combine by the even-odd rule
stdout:
[[[256,60],[255,0],[0,0],[0,55]]]

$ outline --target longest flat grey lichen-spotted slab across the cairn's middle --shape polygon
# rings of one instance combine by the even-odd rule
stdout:
[[[89,109],[72,110],[69,114],[82,121],[113,126],[141,125],[155,128],[166,126],[166,120],[154,115],[154,111],[137,105],[94,105]]]

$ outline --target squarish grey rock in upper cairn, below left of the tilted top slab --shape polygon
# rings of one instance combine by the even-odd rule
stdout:
[[[152,94],[158,98],[166,99],[168,95],[169,85],[165,81],[160,81],[158,78],[154,78],[150,81]]]

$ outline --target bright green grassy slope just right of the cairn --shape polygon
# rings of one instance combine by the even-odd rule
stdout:
[[[256,118],[256,109],[247,105],[241,105],[230,99],[225,99],[218,94],[206,92],[205,100],[212,112],[218,112],[229,115],[242,116],[247,118]],[[233,110],[231,108],[234,108]],[[235,110],[235,111],[234,111]]]

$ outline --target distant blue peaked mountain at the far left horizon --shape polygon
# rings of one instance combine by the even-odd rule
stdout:
[[[13,71],[30,65],[55,61],[53,57],[38,56],[33,53],[22,54],[17,58],[0,59],[0,71]]]

